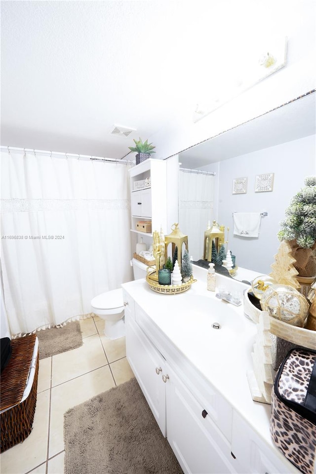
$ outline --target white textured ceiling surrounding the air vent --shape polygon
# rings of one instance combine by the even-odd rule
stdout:
[[[255,38],[291,36],[293,5],[2,1],[1,145],[122,158],[228,83]]]

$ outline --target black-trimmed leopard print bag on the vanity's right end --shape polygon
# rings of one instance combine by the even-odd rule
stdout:
[[[316,352],[292,349],[272,390],[270,432],[302,473],[316,473]]]

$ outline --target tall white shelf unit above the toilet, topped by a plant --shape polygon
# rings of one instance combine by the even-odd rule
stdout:
[[[169,233],[167,229],[167,165],[166,160],[149,158],[130,169],[131,231],[152,236],[154,231]],[[134,182],[150,178],[151,187],[134,190]],[[138,221],[150,221],[152,232],[136,229]]]

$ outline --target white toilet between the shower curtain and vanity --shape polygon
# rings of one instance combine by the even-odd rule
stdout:
[[[145,278],[147,265],[135,258],[132,260],[134,280]],[[107,291],[91,300],[91,311],[104,319],[104,334],[109,339],[125,336],[123,290]]]

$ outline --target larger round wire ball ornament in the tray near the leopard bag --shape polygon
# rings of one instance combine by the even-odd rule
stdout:
[[[272,285],[261,297],[261,308],[270,316],[293,326],[303,327],[309,312],[304,295],[289,285]]]

